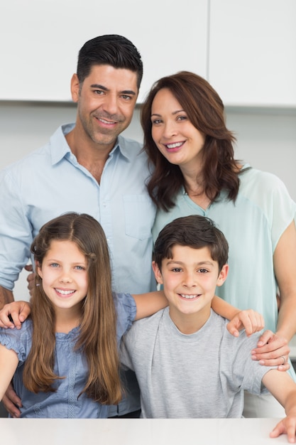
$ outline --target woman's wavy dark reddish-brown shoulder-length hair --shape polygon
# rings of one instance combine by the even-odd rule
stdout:
[[[148,193],[158,208],[169,210],[175,195],[185,186],[180,167],[167,161],[152,138],[151,109],[155,95],[168,88],[187,113],[195,128],[205,135],[202,148],[202,184],[209,200],[219,198],[224,189],[230,200],[239,193],[239,171],[234,159],[236,140],[225,124],[224,104],[214,88],[199,75],[181,71],[155,82],[141,108],[144,135],[143,150],[148,154],[153,173]]]

